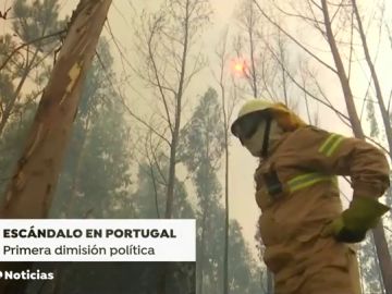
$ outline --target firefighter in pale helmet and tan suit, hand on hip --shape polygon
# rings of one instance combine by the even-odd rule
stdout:
[[[260,159],[255,172],[264,260],[275,294],[358,294],[353,243],[389,208],[389,164],[372,145],[305,124],[282,103],[247,101],[231,131]],[[350,175],[342,211],[336,175]]]

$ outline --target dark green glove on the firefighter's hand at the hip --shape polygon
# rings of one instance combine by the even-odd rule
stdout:
[[[339,242],[356,243],[365,238],[366,232],[375,228],[381,216],[389,210],[388,206],[377,199],[356,196],[350,208],[330,222],[321,235],[333,235]]]

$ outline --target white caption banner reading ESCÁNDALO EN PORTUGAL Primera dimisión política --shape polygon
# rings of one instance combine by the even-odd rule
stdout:
[[[196,221],[2,219],[0,260],[196,261]]]

